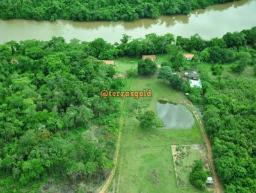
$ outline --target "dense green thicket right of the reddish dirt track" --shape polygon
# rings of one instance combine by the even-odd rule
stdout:
[[[256,192],[256,78],[204,77],[204,121],[228,193]]]

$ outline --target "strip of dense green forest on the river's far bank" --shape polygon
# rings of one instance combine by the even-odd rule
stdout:
[[[134,20],[160,15],[188,14],[234,0],[1,0],[1,19]]]

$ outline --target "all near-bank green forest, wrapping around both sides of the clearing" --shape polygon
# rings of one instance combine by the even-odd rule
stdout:
[[[102,38],[66,43],[61,37],[0,45],[0,191],[31,192],[49,179],[83,181],[92,190],[113,167],[120,105],[99,93],[124,86],[113,78],[115,69],[98,59],[168,52],[168,72],[204,62],[218,74],[212,79],[201,73],[202,89],[182,85],[179,76],[168,81],[179,82],[177,89],[205,105],[205,126],[227,192],[256,192],[256,79],[239,78],[246,66],[255,66],[255,47],[256,27],[212,40],[150,34],[135,40],[124,35],[113,45]],[[184,52],[193,52],[193,61],[184,60]],[[221,75],[220,63],[232,63],[237,78]]]

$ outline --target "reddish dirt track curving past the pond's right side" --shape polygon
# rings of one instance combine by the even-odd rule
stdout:
[[[215,170],[215,166],[214,166],[211,142],[209,140],[208,135],[205,133],[204,125],[202,123],[202,120],[199,116],[199,113],[198,113],[196,107],[189,100],[186,101],[186,104],[188,104],[191,107],[191,109],[193,111],[193,114],[195,114],[196,121],[199,123],[200,130],[201,130],[202,134],[204,135],[204,141],[205,141],[205,145],[206,145],[206,148],[207,148],[207,158],[209,160],[209,166],[210,166],[211,171],[212,171],[212,178],[213,178],[213,181],[214,181],[215,192],[216,193],[221,193],[222,189],[221,189],[221,185],[220,185],[220,180],[219,180],[219,178],[216,174],[216,170]]]

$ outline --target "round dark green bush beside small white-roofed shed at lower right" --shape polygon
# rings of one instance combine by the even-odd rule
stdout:
[[[196,160],[195,166],[189,174],[189,181],[191,185],[194,185],[198,189],[204,187],[207,180],[207,171],[204,170],[204,162],[202,160]]]

